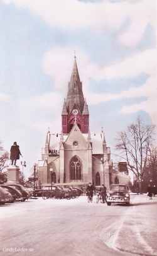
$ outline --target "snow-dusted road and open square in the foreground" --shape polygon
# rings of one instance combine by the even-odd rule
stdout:
[[[157,255],[157,197],[131,205],[38,197],[0,206],[0,255]],[[25,250],[25,251],[24,251]]]

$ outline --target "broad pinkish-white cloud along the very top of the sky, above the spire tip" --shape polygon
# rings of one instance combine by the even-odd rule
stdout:
[[[130,25],[119,34],[119,42],[126,47],[138,44],[146,25],[156,27],[156,0],[122,1],[111,3],[82,2],[77,0],[2,0],[14,3],[20,8],[28,8],[53,26],[65,31],[93,30],[104,33],[118,30],[129,18]]]

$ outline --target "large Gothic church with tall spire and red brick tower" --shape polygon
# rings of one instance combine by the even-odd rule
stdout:
[[[75,57],[67,98],[63,102],[62,127],[57,134],[50,131],[46,134],[38,161],[38,183],[40,187],[50,185],[51,181],[82,187],[89,182],[94,186],[104,183],[109,189],[111,182],[114,183],[112,173],[111,150],[103,129],[100,134],[90,133],[89,109]]]

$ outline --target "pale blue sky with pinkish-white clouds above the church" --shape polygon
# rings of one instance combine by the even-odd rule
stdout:
[[[156,0],[0,0],[0,38],[0,141],[17,142],[25,177],[48,127],[61,132],[74,51],[113,160],[117,132],[138,116],[157,126]]]

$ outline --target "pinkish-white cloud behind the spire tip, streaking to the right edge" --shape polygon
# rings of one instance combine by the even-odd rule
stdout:
[[[112,66],[97,66],[94,62],[91,62],[89,56],[77,49],[78,58],[77,66],[80,74],[80,79],[83,81],[84,96],[87,98],[89,105],[99,104],[106,102],[107,100],[117,100],[119,98],[135,98],[146,96],[148,100],[141,102],[133,106],[127,106],[122,108],[123,113],[136,112],[138,110],[144,110],[149,113],[153,122],[157,121],[156,112],[156,49],[145,50],[144,52],[136,53],[127,59],[112,64]],[[46,52],[43,57],[43,67],[45,73],[53,76],[56,88],[67,88],[70,81],[72,72],[72,62],[69,62],[69,55],[72,52],[69,48],[53,48]],[[70,73],[68,73],[70,71]],[[146,73],[149,78],[146,79],[142,86],[136,88],[136,84],[129,89],[123,88],[120,93],[99,94],[92,93],[89,87],[89,78],[95,79],[99,82],[102,79],[113,78],[126,78],[130,79],[138,74]]]

